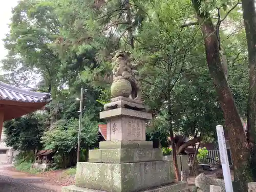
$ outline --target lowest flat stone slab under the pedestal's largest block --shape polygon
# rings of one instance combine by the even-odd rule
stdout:
[[[173,183],[164,186],[157,186],[146,190],[140,190],[138,192],[188,192],[187,182]],[[106,192],[102,190],[94,190],[89,188],[77,187],[75,185],[63,187],[61,192]],[[111,191],[108,191],[111,192]]]

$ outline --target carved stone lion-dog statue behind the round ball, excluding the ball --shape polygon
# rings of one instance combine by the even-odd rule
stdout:
[[[131,53],[118,50],[113,55],[115,55],[112,58],[113,80],[128,80],[132,86],[132,93],[129,97],[133,100],[141,101],[142,85],[139,80],[138,71],[135,70],[137,65],[131,62]]]

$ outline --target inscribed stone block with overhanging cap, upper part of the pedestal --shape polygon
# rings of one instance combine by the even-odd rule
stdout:
[[[126,108],[100,112],[100,118],[107,120],[106,140],[145,141],[146,120],[152,114]]]

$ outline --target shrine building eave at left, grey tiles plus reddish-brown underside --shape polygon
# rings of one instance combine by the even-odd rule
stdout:
[[[0,81],[0,112],[4,121],[11,120],[37,110],[51,101],[50,93],[22,90]]]

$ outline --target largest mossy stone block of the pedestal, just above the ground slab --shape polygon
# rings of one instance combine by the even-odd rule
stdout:
[[[76,186],[111,192],[131,192],[175,181],[172,161],[137,163],[77,163]]]

